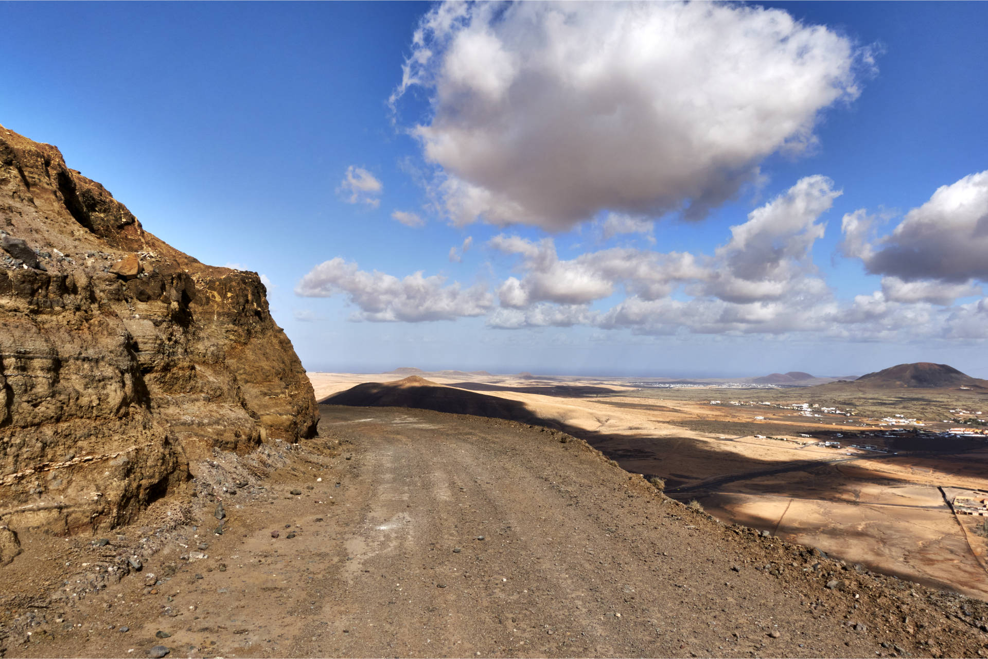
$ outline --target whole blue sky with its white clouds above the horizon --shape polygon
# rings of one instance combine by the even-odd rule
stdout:
[[[986,19],[0,3],[0,124],[262,273],[310,370],[988,376]]]

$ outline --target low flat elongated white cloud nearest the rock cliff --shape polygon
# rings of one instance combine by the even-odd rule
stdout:
[[[356,263],[337,257],[319,264],[298,282],[295,294],[331,297],[344,294],[360,311],[354,320],[378,322],[453,320],[481,316],[493,306],[485,287],[462,289],[446,285],[445,278],[423,277],[421,272],[398,279],[379,272],[365,272]]]

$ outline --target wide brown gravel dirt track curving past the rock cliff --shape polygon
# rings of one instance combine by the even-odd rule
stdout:
[[[324,406],[320,436],[343,452],[302,452],[266,495],[226,501],[229,531],[208,534],[208,558],[161,551],[143,574],[176,571],[156,593],[131,575],[7,655],[988,652],[984,603],[724,526],[559,434]]]

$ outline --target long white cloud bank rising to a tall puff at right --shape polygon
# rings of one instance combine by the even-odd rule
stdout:
[[[747,309],[718,306],[717,313],[724,319],[715,322],[725,326],[746,322],[764,326],[766,313],[779,316],[789,307],[804,314],[801,300],[819,301],[830,296],[829,288],[815,276],[811,249],[823,237],[825,225],[818,222],[820,216],[840,194],[826,177],[800,179],[749,213],[747,221],[732,226],[730,240],[712,256],[613,248],[561,260],[551,238],[536,243],[498,235],[488,245],[521,256],[523,273],[521,278],[506,280],[498,288],[498,297],[502,307],[526,309],[544,302],[588,304],[623,288],[626,295],[650,302],[683,285],[698,299],[753,305]],[[646,307],[665,314],[675,305],[638,305],[636,313]],[[788,323],[794,324],[799,323]]]

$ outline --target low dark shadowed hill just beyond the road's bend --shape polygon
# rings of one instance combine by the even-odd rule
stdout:
[[[552,425],[517,400],[444,386],[417,375],[393,382],[358,384],[333,394],[322,403],[353,407],[410,407],[507,419],[539,426]]]

